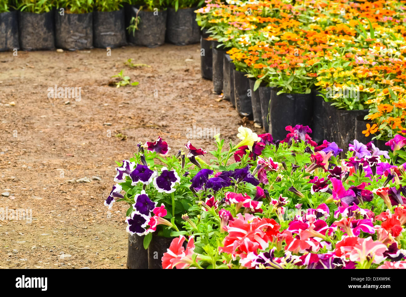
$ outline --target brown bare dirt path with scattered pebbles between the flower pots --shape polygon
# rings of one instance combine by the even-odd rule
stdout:
[[[235,141],[242,124],[201,79],[199,53],[199,45],[0,53],[0,191],[9,192],[0,211],[32,211],[31,223],[0,220],[0,268],[126,267],[127,207],[109,214],[103,205],[114,160],[158,136],[177,152],[193,125]],[[129,58],[151,67],[130,69]],[[121,69],[139,85],[108,86]],[[81,100],[48,99],[55,84],[81,87]],[[214,148],[212,139],[191,141]],[[85,176],[96,178],[73,181]]]

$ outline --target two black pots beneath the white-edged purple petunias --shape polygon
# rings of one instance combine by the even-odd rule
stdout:
[[[127,267],[130,269],[162,269],[162,256],[167,252],[173,238],[152,235],[148,249],[144,248],[144,237],[128,236]],[[186,242],[184,242],[186,249]]]

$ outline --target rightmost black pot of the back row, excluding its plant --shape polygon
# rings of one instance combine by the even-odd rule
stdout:
[[[168,8],[166,22],[166,41],[176,45],[198,43],[200,27],[196,22],[196,8]]]

